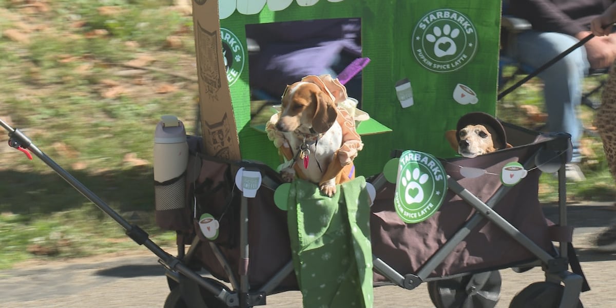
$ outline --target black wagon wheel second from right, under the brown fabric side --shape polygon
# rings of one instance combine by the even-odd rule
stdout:
[[[493,308],[498,302],[498,270],[428,282],[428,293],[437,308]]]

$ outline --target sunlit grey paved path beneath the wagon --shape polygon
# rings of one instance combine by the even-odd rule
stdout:
[[[616,219],[611,203],[569,206],[570,224],[575,226],[574,245],[582,261],[591,291],[580,297],[584,307],[616,307],[616,254],[593,251],[591,240]],[[548,217],[556,208],[545,207]],[[540,269],[522,274],[501,270],[503,285],[496,307],[509,306],[511,298],[532,282],[543,280]],[[156,257],[137,247],[124,255],[98,256],[47,264],[22,265],[0,272],[0,307],[163,307],[169,290]],[[270,308],[301,307],[301,294],[291,291],[267,297]],[[375,305],[381,307],[433,307],[425,284],[416,290],[397,286],[375,288]]]

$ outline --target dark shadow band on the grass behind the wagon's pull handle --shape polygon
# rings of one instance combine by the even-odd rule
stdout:
[[[153,174],[150,166],[100,174],[69,171],[107,205],[119,211],[154,209]],[[53,213],[95,206],[55,172],[0,171],[0,213]]]

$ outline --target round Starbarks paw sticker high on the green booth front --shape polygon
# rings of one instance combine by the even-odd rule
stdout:
[[[477,30],[466,15],[456,10],[432,10],[415,25],[411,46],[417,61],[428,70],[455,71],[475,55]]]

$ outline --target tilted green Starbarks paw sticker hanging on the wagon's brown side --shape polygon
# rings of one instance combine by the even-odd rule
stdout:
[[[447,192],[447,176],[440,161],[428,153],[408,150],[398,164],[394,205],[402,221],[421,222],[436,213]]]

